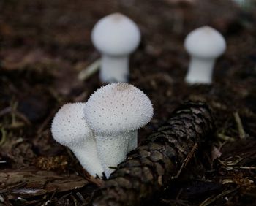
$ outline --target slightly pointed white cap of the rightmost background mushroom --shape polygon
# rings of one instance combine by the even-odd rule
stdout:
[[[224,53],[226,42],[219,31],[210,26],[203,26],[187,35],[184,46],[193,57],[217,58]]]

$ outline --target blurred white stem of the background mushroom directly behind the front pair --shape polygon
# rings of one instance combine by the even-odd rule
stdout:
[[[103,83],[127,83],[128,77],[129,56],[102,56],[99,78]]]

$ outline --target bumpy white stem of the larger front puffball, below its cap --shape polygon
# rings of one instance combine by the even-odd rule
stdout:
[[[121,134],[112,135],[97,134],[97,150],[99,159],[102,162],[102,166],[106,177],[108,178],[114,169],[110,167],[117,167],[121,161],[124,161],[127,155],[127,148],[129,140],[137,137],[138,131],[128,131]]]

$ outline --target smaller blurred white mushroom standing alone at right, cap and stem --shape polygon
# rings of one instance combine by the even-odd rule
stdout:
[[[184,46],[191,56],[186,82],[211,84],[215,60],[226,49],[222,34],[210,26],[203,26],[187,35]]]

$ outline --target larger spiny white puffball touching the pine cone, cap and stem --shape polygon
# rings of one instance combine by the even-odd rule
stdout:
[[[138,129],[153,116],[151,101],[133,85],[112,83],[95,91],[84,109],[108,178],[113,172],[110,167],[116,167],[137,147]]]

